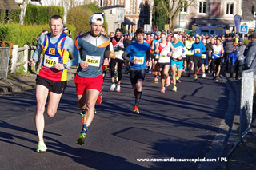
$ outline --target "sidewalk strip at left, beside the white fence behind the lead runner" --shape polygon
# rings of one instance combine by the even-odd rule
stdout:
[[[68,80],[74,79],[76,70],[76,66],[72,66],[70,69],[68,69]],[[37,75],[35,73],[26,73],[18,76],[8,73],[7,80],[10,81],[13,85],[10,85],[10,83],[5,79],[1,79],[0,94],[17,93],[27,89],[34,89],[36,77]]]

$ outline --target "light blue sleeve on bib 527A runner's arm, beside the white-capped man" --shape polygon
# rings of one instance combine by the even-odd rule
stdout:
[[[73,57],[72,60],[70,60],[66,63],[66,67],[70,68],[72,65],[77,65],[78,62],[80,61],[80,53],[79,53],[79,50],[77,49],[76,45],[74,45],[74,42],[71,38],[69,38],[69,37],[66,38],[64,48]]]

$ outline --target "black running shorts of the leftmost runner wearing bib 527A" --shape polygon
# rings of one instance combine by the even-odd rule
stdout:
[[[37,85],[43,85],[49,89],[50,92],[57,94],[64,93],[64,90],[66,89],[66,82],[67,81],[51,81],[41,76],[37,76],[36,78]]]

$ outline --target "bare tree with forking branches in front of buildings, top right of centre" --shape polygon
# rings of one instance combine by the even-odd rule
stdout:
[[[160,0],[158,8],[163,10],[169,21],[169,29],[174,30],[174,21],[182,8],[197,6],[197,0]]]

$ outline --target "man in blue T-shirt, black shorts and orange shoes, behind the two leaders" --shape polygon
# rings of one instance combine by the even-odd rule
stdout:
[[[144,29],[136,30],[137,42],[131,43],[122,58],[130,62],[130,82],[134,89],[134,113],[139,113],[138,104],[142,97],[142,83],[146,76],[146,68],[150,65],[150,45],[144,41]],[[130,57],[127,55],[130,54]]]

